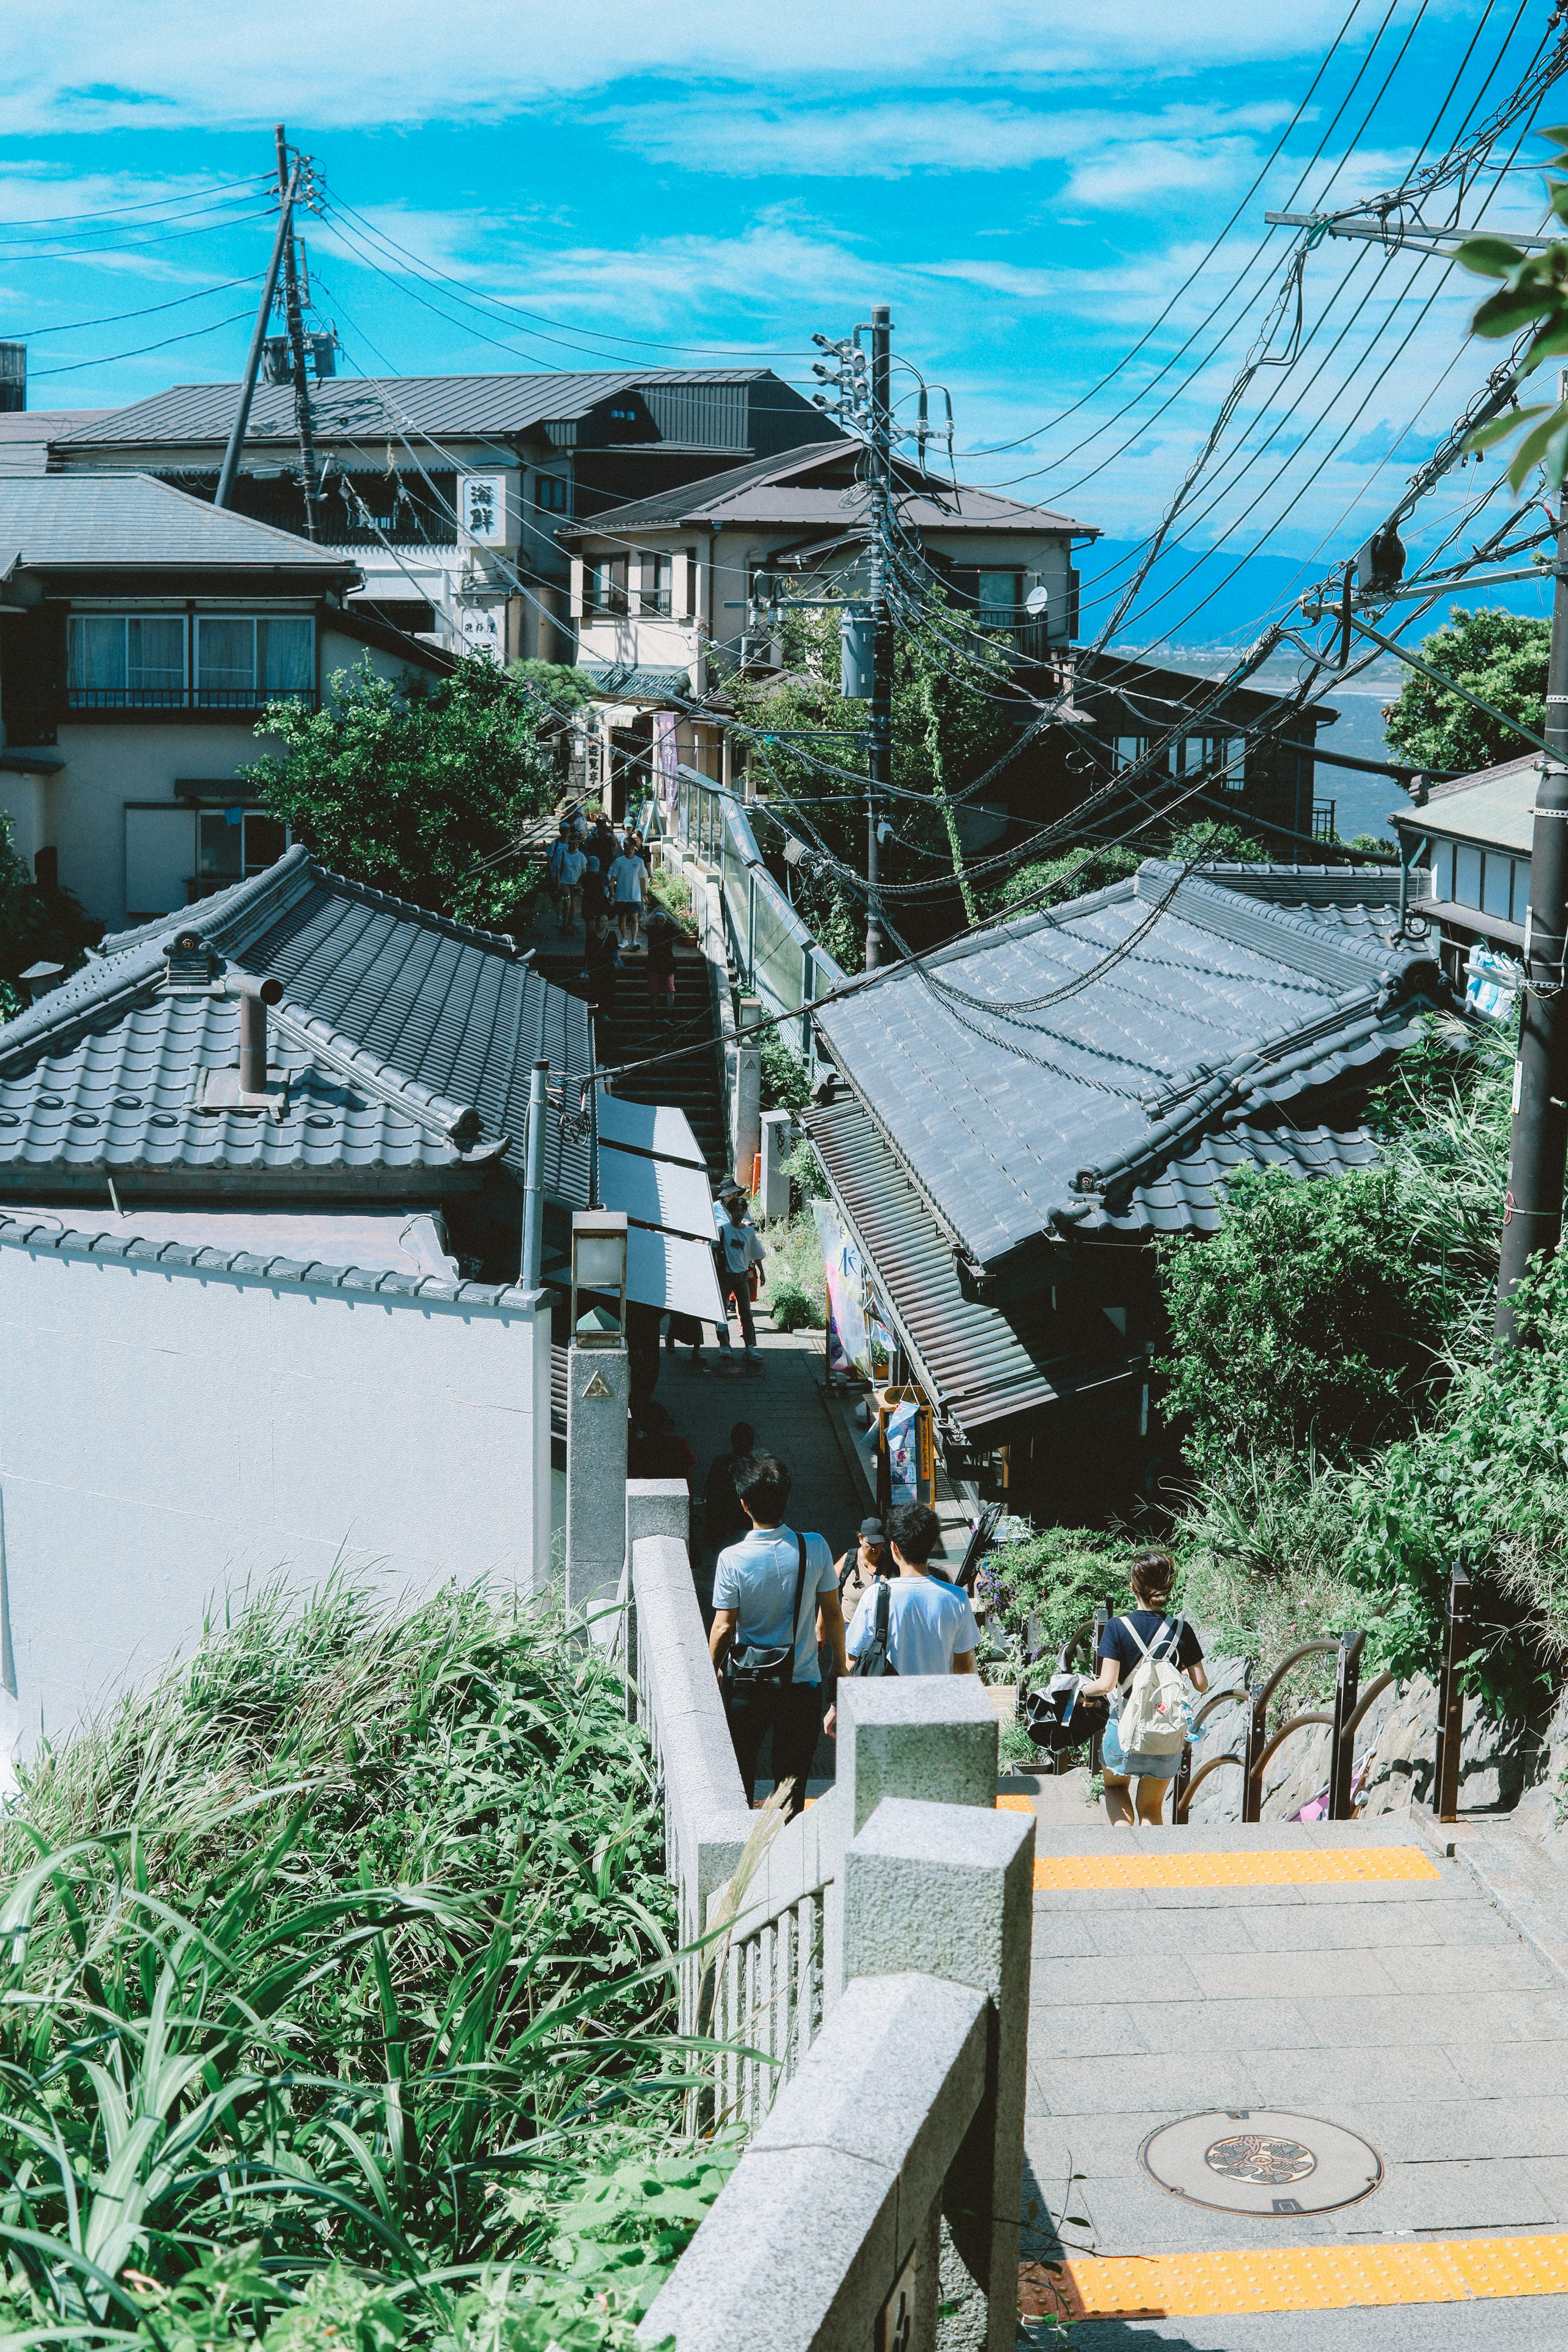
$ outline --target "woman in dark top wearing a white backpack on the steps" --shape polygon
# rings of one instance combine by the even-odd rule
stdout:
[[[1138,1552],[1128,1569],[1135,1609],[1110,1621],[1100,1635],[1100,1672],[1084,1682],[1079,1698],[1110,1698],[1110,1722],[1100,1740],[1105,1811],[1114,1825],[1133,1820],[1154,1828],[1166,1813],[1166,1785],[1175,1778],[1187,1743],[1187,1693],[1208,1689],[1204,1651],[1182,1616],[1168,1616],[1175,1562],[1168,1552]],[[1121,1705],[1117,1689],[1121,1686]],[[1138,1783],[1138,1813],[1128,1780]]]

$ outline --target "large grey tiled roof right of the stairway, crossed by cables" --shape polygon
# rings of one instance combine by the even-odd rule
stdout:
[[[1239,877],[1147,863],[818,1011],[976,1270],[1041,1235],[1201,1232],[1241,1160],[1368,1157],[1326,1112],[1448,1002],[1434,950],[1392,938],[1396,875]]]

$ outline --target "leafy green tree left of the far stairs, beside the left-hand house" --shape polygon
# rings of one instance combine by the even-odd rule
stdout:
[[[491,661],[402,687],[367,656],[339,670],[320,710],[275,703],[259,731],[280,736],[282,753],[242,774],[336,873],[503,929],[520,896],[520,835],[559,790],[557,729],[538,684]]]

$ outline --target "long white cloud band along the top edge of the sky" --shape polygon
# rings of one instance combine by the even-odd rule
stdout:
[[[1448,9],[1465,0],[1443,0]],[[496,120],[654,78],[856,96],[889,82],[1070,82],[1274,66],[1321,52],[1340,0],[9,0],[0,129],[315,127]]]

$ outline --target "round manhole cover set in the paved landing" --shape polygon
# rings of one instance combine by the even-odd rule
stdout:
[[[1138,2154],[1161,2190],[1222,2213],[1331,2213],[1382,2180],[1382,2157],[1354,2131],[1272,2110],[1187,2114]]]

